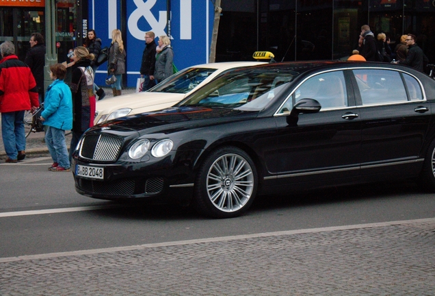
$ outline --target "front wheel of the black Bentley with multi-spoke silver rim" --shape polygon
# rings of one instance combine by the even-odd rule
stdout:
[[[238,217],[256,196],[257,173],[248,154],[222,147],[202,162],[195,182],[196,210],[213,218]]]

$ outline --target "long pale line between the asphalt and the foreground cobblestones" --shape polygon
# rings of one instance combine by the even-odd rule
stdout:
[[[214,242],[222,242],[222,241],[228,241],[228,240],[240,240],[240,239],[246,239],[246,238],[259,238],[259,237],[267,237],[267,236],[283,236],[283,235],[293,235],[293,234],[331,232],[334,230],[355,230],[355,229],[371,228],[371,227],[386,227],[386,226],[391,226],[391,225],[412,224],[412,223],[435,223],[435,218],[404,220],[404,221],[389,221],[389,222],[367,223],[367,224],[356,224],[356,225],[343,225],[343,226],[332,226],[332,227],[321,227],[321,228],[309,228],[309,229],[303,229],[303,230],[288,230],[288,231],[280,231],[280,232],[263,232],[263,233],[258,233],[258,234],[242,234],[242,235],[237,235],[237,236],[222,236],[222,237],[215,237],[215,238],[199,238],[199,239],[194,239],[194,240],[178,240],[178,241],[165,242],[165,243],[150,243],[150,244],[144,244],[144,245],[131,245],[131,246],[126,246],[126,247],[110,247],[110,248],[104,248],[104,249],[87,249],[87,250],[81,250],[81,251],[68,251],[68,252],[49,253],[49,254],[17,256],[17,257],[0,258],[0,263],[22,261],[22,260],[47,259],[47,258],[56,258],[56,257],[65,257],[65,256],[92,255],[92,254],[108,253],[108,252],[116,252],[116,251],[135,251],[135,250],[139,250],[139,249],[148,249],[148,248],[154,248],[154,247],[169,247],[169,246],[175,246],[175,245],[191,245],[191,244],[196,244],[196,243],[214,243]]]

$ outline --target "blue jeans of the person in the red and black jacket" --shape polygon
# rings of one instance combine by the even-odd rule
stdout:
[[[1,136],[8,157],[16,160],[18,151],[26,149],[24,111],[1,113]]]

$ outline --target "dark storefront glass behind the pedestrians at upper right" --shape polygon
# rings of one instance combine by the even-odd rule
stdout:
[[[402,34],[417,36],[417,44],[426,56],[435,60],[435,2],[427,0],[246,0],[254,9],[250,25],[239,27],[241,14],[221,17],[217,61],[226,50],[226,60],[252,56],[245,47],[229,42],[237,32],[239,42],[246,44],[247,34],[256,32],[256,50],[272,51],[275,60],[344,59],[358,47],[362,25],[386,34],[394,49]],[[248,19],[248,18],[246,18]],[[225,37],[222,37],[225,36]],[[236,38],[237,39],[237,38]],[[241,41],[240,41],[241,40]],[[234,45],[231,47],[231,45]],[[225,48],[224,48],[225,47]],[[237,55],[228,55],[237,52]]]

